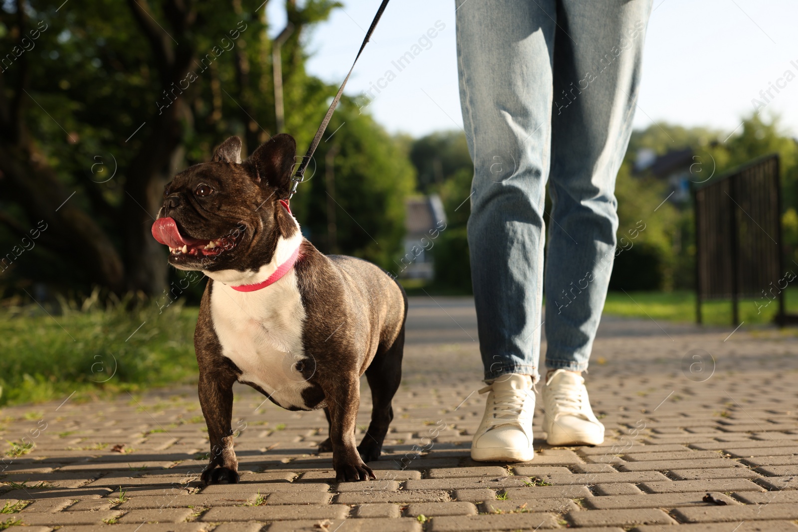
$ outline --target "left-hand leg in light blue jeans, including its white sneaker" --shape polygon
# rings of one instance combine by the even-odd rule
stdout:
[[[554,0],[456,0],[460,103],[474,162],[468,245],[488,386],[476,460],[534,457]]]

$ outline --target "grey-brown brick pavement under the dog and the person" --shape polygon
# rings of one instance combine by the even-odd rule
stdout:
[[[0,412],[0,438],[36,443],[0,466],[0,529],[798,530],[795,333],[606,317],[587,376],[606,443],[539,439],[534,460],[506,466],[468,455],[484,404],[470,301],[413,299],[408,331],[376,481],[336,484],[330,453],[315,451],[323,413],[250,388],[234,412],[242,483],[205,489],[193,388],[57,401]]]

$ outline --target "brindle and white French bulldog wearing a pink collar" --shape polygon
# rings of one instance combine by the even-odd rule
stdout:
[[[324,408],[338,481],[373,479],[401,380],[407,297],[385,271],[325,255],[302,237],[288,196],[296,143],[275,135],[247,160],[232,136],[211,162],[165,187],[152,226],[169,263],[208,282],[194,347],[199,403],[211,443],[202,482],[239,482],[233,450],[233,384],[248,384],[289,410]],[[371,422],[355,447],[360,377]]]

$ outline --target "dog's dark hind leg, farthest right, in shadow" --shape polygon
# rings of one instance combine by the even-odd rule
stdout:
[[[401,382],[401,359],[405,349],[404,327],[393,345],[384,351],[377,352],[374,360],[365,370],[365,378],[371,388],[371,423],[369,429],[358,446],[358,452],[364,462],[377,460],[382,452],[382,442],[388,433],[393,420],[391,400],[399,389]]]

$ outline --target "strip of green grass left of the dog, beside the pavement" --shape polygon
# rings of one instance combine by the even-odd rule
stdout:
[[[48,312],[51,316],[38,305],[3,302],[0,406],[196,381],[197,308],[176,302],[161,312],[153,302],[128,298],[101,309],[89,298],[80,307],[61,302]]]

